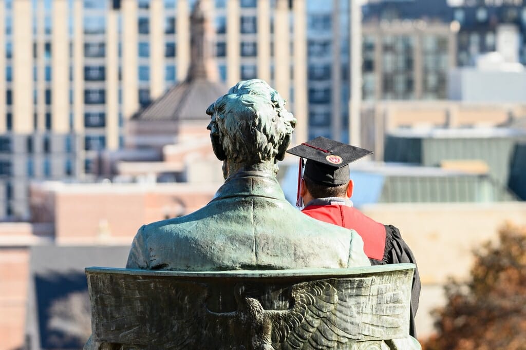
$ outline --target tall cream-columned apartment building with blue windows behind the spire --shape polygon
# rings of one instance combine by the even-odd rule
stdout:
[[[269,81],[297,140],[357,140],[358,2],[201,1],[226,85]],[[0,0],[0,218],[29,217],[31,179],[89,180],[100,151],[123,147],[126,121],[185,79],[195,2]]]

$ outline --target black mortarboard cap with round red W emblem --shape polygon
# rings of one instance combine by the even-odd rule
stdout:
[[[326,186],[340,186],[349,181],[349,163],[372,152],[360,147],[347,145],[317,137],[287,150],[292,155],[306,158],[304,176]],[[301,164],[301,162],[300,162]]]

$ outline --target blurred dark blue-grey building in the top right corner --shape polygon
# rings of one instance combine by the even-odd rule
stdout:
[[[456,22],[457,63],[470,66],[480,54],[507,46],[506,59],[526,64],[523,0],[369,0],[363,22],[417,20]]]

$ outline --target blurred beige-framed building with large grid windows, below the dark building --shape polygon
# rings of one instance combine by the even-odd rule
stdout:
[[[364,23],[363,100],[446,99],[457,30],[423,20]]]

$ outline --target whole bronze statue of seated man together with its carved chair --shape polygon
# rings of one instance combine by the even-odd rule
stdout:
[[[86,269],[84,349],[420,349],[414,265],[368,266],[356,231],[285,200],[276,162],[296,120],[279,94],[241,81],[207,113],[225,184],[204,208],[141,227],[127,269]]]

